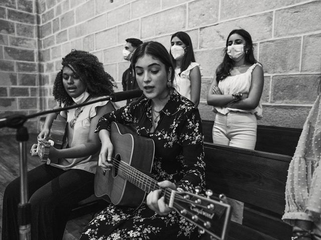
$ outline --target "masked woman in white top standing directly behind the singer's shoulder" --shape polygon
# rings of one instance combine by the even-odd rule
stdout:
[[[195,62],[191,37],[184,31],[178,31],[171,37],[170,55],[175,66],[177,91],[194,102],[200,103],[201,72],[200,64]]]

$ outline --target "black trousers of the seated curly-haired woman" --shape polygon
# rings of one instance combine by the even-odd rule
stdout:
[[[62,170],[42,164],[28,172],[28,196],[31,203],[33,240],[62,239],[71,209],[78,201],[94,193],[95,174],[80,170]],[[18,203],[20,177],[6,187],[3,202],[3,240],[18,240]]]

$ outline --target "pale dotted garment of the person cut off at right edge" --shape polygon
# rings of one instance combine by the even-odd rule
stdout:
[[[321,239],[321,94],[306,118],[289,165],[285,187],[283,221],[295,225],[295,220],[313,222],[312,230]]]

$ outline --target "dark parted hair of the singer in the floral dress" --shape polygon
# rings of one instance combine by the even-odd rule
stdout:
[[[165,69],[167,73],[170,71],[170,68],[172,68],[171,82],[173,83],[175,71],[174,71],[174,65],[173,65],[172,59],[166,47],[162,43],[159,43],[157,41],[147,41],[140,44],[136,48],[136,50],[134,51],[131,57],[131,64],[132,64],[134,73],[135,73],[135,64],[138,58],[144,56],[145,54],[151,55],[152,57],[161,61],[165,65]]]

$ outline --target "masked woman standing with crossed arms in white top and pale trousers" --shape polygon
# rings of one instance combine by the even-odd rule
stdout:
[[[262,117],[262,65],[255,59],[251,35],[244,29],[230,32],[224,52],[207,97],[216,112],[213,141],[254,149],[256,120]]]

